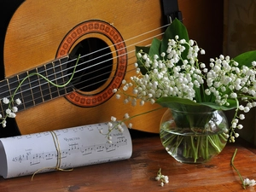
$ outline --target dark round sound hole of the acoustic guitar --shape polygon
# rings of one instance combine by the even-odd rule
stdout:
[[[74,47],[70,53],[70,60],[78,58],[79,54],[82,58],[79,60],[72,84],[76,89],[86,92],[97,90],[111,78],[113,67],[111,49],[100,38],[86,38]],[[74,66],[75,63],[72,65]],[[73,73],[73,69],[68,73]]]

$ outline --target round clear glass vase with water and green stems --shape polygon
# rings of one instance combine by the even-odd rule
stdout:
[[[160,140],[175,160],[205,163],[223,150],[228,129],[223,111],[197,106],[169,108],[160,122]]]

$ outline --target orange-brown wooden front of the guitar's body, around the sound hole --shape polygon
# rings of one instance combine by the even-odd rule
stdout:
[[[75,45],[86,38],[94,39],[96,45],[98,42],[104,42],[111,47],[114,42],[108,33],[90,31],[83,32],[79,38],[67,44],[65,51],[61,52],[65,48],[67,39],[73,37],[76,27],[82,27],[89,21],[113,27],[119,32],[119,38],[125,40],[127,62],[124,79],[129,80],[136,74],[133,66],[136,62],[135,45],[150,44],[153,35],[159,34],[162,30],[156,30],[141,38],[134,37],[162,26],[161,13],[160,1],[157,0],[26,0],[20,4],[9,21],[4,38],[5,79],[44,65],[65,54],[71,54]],[[149,38],[148,41],[140,43],[146,38]],[[126,39],[131,40],[126,42]],[[117,49],[109,49],[118,52]],[[112,55],[114,57],[119,53]],[[114,62],[116,60],[113,58]],[[138,104],[137,107],[131,107],[131,104],[125,105],[115,96],[110,96],[106,101],[95,106],[86,106],[81,102],[82,100],[79,101],[80,97],[84,97],[84,101],[91,97],[94,99],[94,96],[96,99],[97,95],[109,88],[109,84],[111,82],[107,80],[95,90],[79,90],[74,86],[75,94],[68,93],[67,96],[59,96],[18,112],[15,120],[20,133],[30,134],[77,125],[96,124],[109,121],[112,115],[122,119],[125,113],[131,116],[160,107],[157,104],[147,104],[143,107]],[[132,119],[131,123],[134,129],[140,131],[159,132],[160,119],[164,112],[165,109],[161,109],[148,113]]]

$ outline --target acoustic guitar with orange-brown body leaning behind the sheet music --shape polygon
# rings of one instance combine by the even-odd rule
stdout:
[[[15,118],[17,128],[8,118],[7,127],[0,128],[0,137],[107,122],[112,115],[122,119],[125,113],[134,115],[160,107],[125,105],[112,92],[123,79],[129,80],[136,74],[135,46],[161,38],[164,23],[160,1],[3,3],[3,12],[9,15],[9,19],[4,18],[1,45],[3,116],[7,108],[3,97],[11,96],[28,74],[40,73],[55,84],[65,84],[71,78],[78,55],[81,58],[71,83],[65,87],[57,88],[38,75],[26,79],[15,95],[22,102]],[[144,114],[131,123],[140,131],[159,132],[165,111]]]

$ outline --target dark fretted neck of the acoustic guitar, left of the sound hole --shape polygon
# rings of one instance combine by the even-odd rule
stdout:
[[[0,98],[10,99],[15,95],[14,100],[19,98],[21,101],[19,111],[22,111],[72,92],[73,88],[70,85],[56,87],[38,75],[43,75],[54,84],[65,84],[68,81],[67,59],[66,56],[0,81]],[[28,77],[28,75],[30,76]],[[8,105],[1,100],[0,106],[0,113],[4,117]]]

